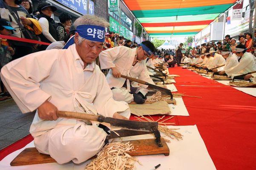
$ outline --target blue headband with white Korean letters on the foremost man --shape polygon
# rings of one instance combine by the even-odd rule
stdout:
[[[105,28],[96,25],[78,25],[76,33],[84,39],[96,42],[104,42],[105,39]],[[74,36],[69,39],[63,49],[67,49],[70,45],[74,44]]]

